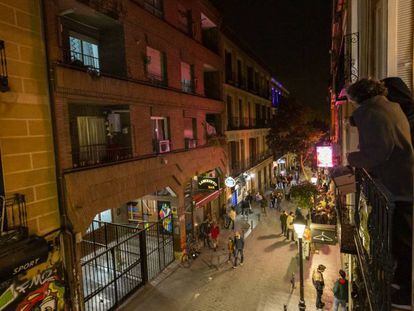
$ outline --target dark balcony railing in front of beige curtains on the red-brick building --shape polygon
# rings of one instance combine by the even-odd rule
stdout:
[[[78,147],[72,153],[73,167],[93,166],[132,158],[132,147],[110,147],[106,144]]]

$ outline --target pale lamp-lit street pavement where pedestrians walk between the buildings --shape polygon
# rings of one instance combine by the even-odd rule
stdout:
[[[294,210],[284,202],[283,208]],[[250,217],[251,219],[253,217]],[[257,219],[257,218],[256,218]],[[220,250],[203,250],[191,268],[174,263],[158,280],[139,290],[121,308],[123,311],[283,311],[298,310],[299,265],[297,245],[280,235],[279,213],[269,210],[245,241],[245,262],[232,268],[227,263],[226,236],[223,232]],[[305,302],[307,310],[316,310],[316,293],[312,270],[318,264],[327,269],[324,310],[332,309],[332,287],[340,264],[337,246],[320,247],[304,262]],[[296,274],[296,289],[291,292],[290,278]],[[161,281],[159,280],[161,279]]]

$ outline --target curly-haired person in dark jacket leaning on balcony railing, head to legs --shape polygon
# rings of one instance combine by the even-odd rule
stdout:
[[[410,125],[401,107],[385,96],[384,84],[361,79],[352,84],[348,97],[359,107],[352,119],[358,128],[359,151],[348,154],[348,163],[364,168],[393,194],[392,255],[393,307],[411,310],[413,146]]]

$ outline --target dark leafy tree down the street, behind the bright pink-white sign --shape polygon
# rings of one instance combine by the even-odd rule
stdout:
[[[313,111],[290,97],[281,105],[267,136],[269,148],[276,159],[287,153],[299,156],[302,171],[313,154],[313,147],[327,134],[324,122],[312,119]]]

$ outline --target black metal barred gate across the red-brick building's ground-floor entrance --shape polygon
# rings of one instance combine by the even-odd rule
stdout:
[[[85,310],[111,310],[174,260],[171,216],[138,228],[93,221],[81,244]]]

